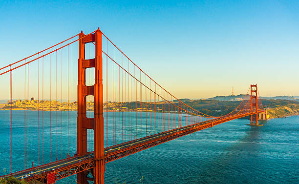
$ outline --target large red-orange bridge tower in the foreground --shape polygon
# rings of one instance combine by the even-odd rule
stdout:
[[[95,42],[95,58],[85,59],[85,43]],[[94,67],[94,85],[85,84],[85,69]],[[94,118],[86,117],[86,96],[94,96]],[[78,117],[77,117],[77,155],[87,153],[87,129],[94,130],[94,164],[93,179],[88,178],[89,171],[77,174],[78,184],[104,184],[104,116],[103,116],[103,62],[102,62],[102,32],[98,28],[95,33],[79,35],[78,60]]]

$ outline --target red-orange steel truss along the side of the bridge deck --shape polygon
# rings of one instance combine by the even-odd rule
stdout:
[[[246,117],[246,116],[251,116],[251,115],[262,113],[262,112],[264,112],[264,111],[247,112],[244,114],[230,116],[230,117],[226,117],[226,118],[222,118],[222,119],[215,119],[215,120],[207,121],[207,123],[204,123],[204,124],[195,123],[195,124],[188,125],[185,127],[176,128],[176,129],[165,132],[165,136],[162,136],[162,137],[159,137],[156,139],[151,139],[149,141],[143,141],[141,143],[133,144],[131,146],[125,147],[120,150],[109,152],[105,155],[104,162],[109,163],[109,162],[115,161],[117,159],[123,158],[125,156],[131,155],[133,153],[153,147],[155,145],[158,145],[161,143],[166,143],[168,141],[191,134],[193,132],[197,132],[197,131],[200,131],[200,130],[203,130],[203,129],[206,129],[209,127],[213,127],[214,125],[217,125],[220,123],[225,123],[225,122],[235,120],[238,118],[242,118],[242,117]],[[150,136],[148,136],[148,137],[150,137]],[[136,140],[134,140],[134,141],[136,141]],[[132,143],[134,143],[134,141],[132,141]],[[88,158],[88,159],[83,160],[82,162],[69,164],[69,165],[61,167],[59,169],[56,169],[54,171],[56,173],[56,180],[60,180],[60,179],[66,178],[68,176],[71,176],[74,174],[80,174],[80,173],[82,173],[82,175],[85,176],[85,180],[90,180],[90,179],[86,178],[86,174],[88,174],[86,171],[88,171],[90,169],[95,170],[95,159],[94,158]],[[34,180],[38,180],[38,181],[45,183],[47,174],[53,173],[54,171],[52,170],[52,171],[47,171],[47,172],[39,174],[39,175],[34,175],[33,177],[26,178],[25,180],[30,181],[30,180],[34,179]]]

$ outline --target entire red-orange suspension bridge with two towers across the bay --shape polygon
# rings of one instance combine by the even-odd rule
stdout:
[[[99,28],[0,68],[0,80],[8,94],[2,99],[9,98],[9,156],[3,162],[10,168],[1,177],[45,184],[75,174],[79,184],[104,184],[109,162],[242,117],[258,125],[257,114],[264,112],[256,84],[227,115],[196,110]],[[15,148],[16,142],[22,146]]]

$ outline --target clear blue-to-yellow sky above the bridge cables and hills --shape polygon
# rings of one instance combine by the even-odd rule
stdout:
[[[0,67],[100,27],[177,98],[299,96],[299,1],[2,1]],[[1,94],[1,92],[0,92]]]

